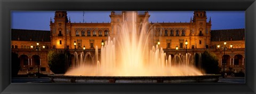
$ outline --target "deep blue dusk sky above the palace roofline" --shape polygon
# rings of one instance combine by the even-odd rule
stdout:
[[[12,29],[50,30],[55,11],[12,11]],[[68,11],[71,22],[83,22],[83,11]],[[189,22],[194,11],[149,11],[149,22]],[[110,11],[85,11],[86,22],[110,22]],[[245,28],[244,11],[206,11],[212,30]]]

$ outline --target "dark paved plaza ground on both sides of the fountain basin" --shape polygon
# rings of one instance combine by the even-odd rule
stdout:
[[[245,83],[244,77],[227,77],[219,78],[219,83]],[[19,77],[12,78],[12,83],[51,83],[50,78],[48,77]]]

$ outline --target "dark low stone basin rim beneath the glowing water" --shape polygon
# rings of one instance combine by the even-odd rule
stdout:
[[[72,76],[49,75],[53,83],[213,83],[219,74],[193,76]]]

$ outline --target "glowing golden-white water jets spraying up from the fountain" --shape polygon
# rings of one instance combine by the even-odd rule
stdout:
[[[203,75],[195,68],[194,55],[176,54],[166,56],[163,48],[152,46],[153,28],[147,30],[147,22],[140,24],[141,30],[136,29],[136,12],[126,12],[126,18],[117,28],[118,32],[113,38],[108,37],[105,45],[101,47],[98,58],[98,46],[95,55],[81,53],[75,68],[65,75],[85,76],[178,76]],[[151,45],[151,47],[150,47]],[[88,58],[92,61],[87,61]]]

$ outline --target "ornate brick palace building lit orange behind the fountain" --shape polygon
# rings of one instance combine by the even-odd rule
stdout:
[[[177,52],[185,54],[186,48],[188,53],[209,50],[218,56],[220,67],[223,67],[223,62],[226,63],[225,70],[229,67],[235,70],[245,68],[245,29],[211,30],[211,18],[206,21],[205,11],[195,11],[190,22],[152,23],[148,21],[149,12],[136,12],[136,15],[136,24],[146,22],[148,29],[154,27],[152,45],[161,42],[159,46],[167,55],[174,56]],[[36,72],[38,65],[41,73],[52,74],[47,64],[47,53],[49,50],[69,49],[72,54],[75,51],[74,41],[77,52],[82,52],[84,46],[86,52],[93,52],[96,46],[100,49],[101,42],[107,40],[108,36],[113,38],[118,34],[117,26],[127,18],[128,13],[111,12],[109,16],[110,23],[71,23],[66,11],[56,11],[54,22],[50,20],[50,31],[12,29],[12,52],[18,53],[21,60],[19,74]],[[141,29],[139,25],[136,27],[137,30]],[[39,53],[35,49],[36,42],[39,42],[38,47],[41,48]],[[176,47],[178,50],[175,50]],[[221,47],[227,49],[222,50]]]

